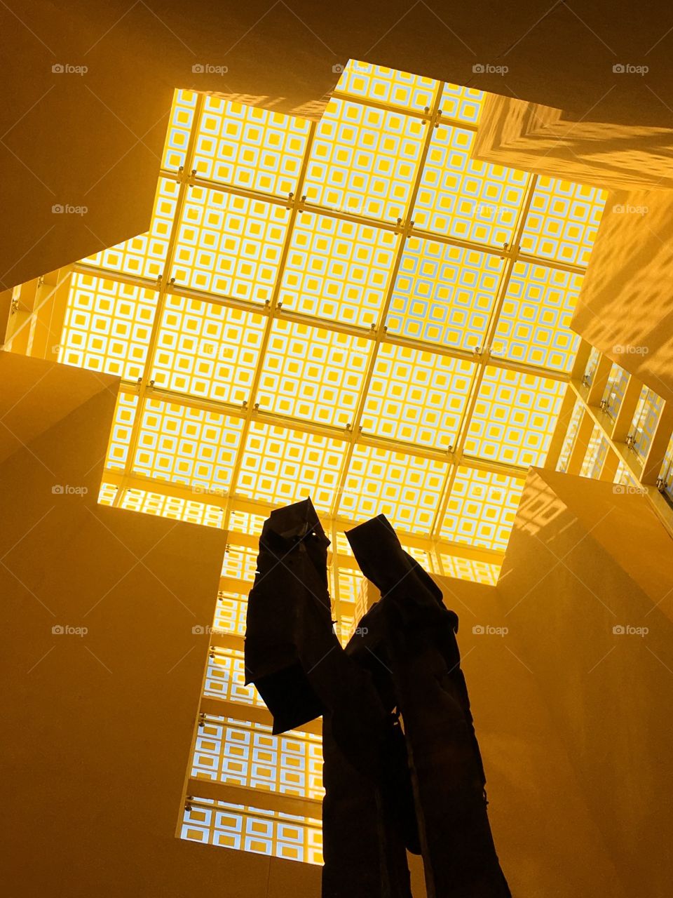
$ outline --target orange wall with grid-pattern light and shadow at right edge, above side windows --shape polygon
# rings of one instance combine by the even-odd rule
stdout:
[[[572,330],[673,400],[673,194],[607,198]]]

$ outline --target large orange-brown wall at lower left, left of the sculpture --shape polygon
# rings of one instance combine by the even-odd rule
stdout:
[[[5,403],[28,401],[48,363],[3,361]],[[97,506],[114,393],[78,371],[59,419],[59,374],[51,427],[0,464],[0,890],[317,898],[318,867],[175,838],[207,654],[192,627],[212,621],[225,534]]]

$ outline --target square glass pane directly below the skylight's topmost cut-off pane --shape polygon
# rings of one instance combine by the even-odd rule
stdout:
[[[404,218],[425,128],[401,112],[329,101],[306,172],[307,201],[389,223]]]

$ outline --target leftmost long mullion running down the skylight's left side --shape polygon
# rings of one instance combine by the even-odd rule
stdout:
[[[197,135],[198,135],[198,122],[201,117],[201,110],[203,109],[205,94],[199,93],[197,96],[197,105],[194,110],[194,122],[192,124],[191,131],[189,133],[189,141],[187,152],[185,154],[185,170],[188,170],[194,159],[194,152],[197,144]],[[175,175],[173,175],[175,178]],[[140,390],[138,392],[138,405],[135,410],[135,418],[133,421],[133,425],[131,427],[131,436],[129,439],[128,445],[128,454],[127,454],[127,463],[125,466],[125,478],[127,478],[131,471],[133,471],[133,463],[135,459],[135,452],[138,446],[138,440],[140,438],[141,431],[141,421],[143,418],[143,410],[144,410],[144,393],[147,388],[147,382],[150,381],[152,376],[152,370],[154,365],[154,352],[156,350],[156,344],[159,339],[159,332],[161,330],[161,321],[162,321],[162,313],[163,306],[166,299],[166,294],[168,292],[168,287],[170,286],[170,269],[173,264],[173,255],[175,253],[175,244],[178,241],[178,232],[179,232],[179,223],[180,218],[182,217],[182,211],[185,204],[185,197],[187,196],[188,190],[188,180],[181,176],[179,178],[179,191],[178,198],[175,204],[175,214],[173,216],[173,223],[170,228],[170,238],[168,242],[168,247],[166,250],[166,260],[163,266],[163,275],[161,281],[158,285],[159,294],[157,295],[156,306],[154,309],[154,318],[152,322],[152,332],[150,334],[150,340],[147,347],[147,355],[145,357],[145,363],[143,368],[143,374],[140,379]],[[117,493],[112,501],[112,505],[114,507],[118,507],[120,502],[124,497],[124,493],[126,491],[126,487],[124,485],[124,480],[120,484]]]

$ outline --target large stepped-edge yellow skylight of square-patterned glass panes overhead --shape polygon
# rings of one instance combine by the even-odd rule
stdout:
[[[59,361],[123,378],[101,501],[310,495],[497,561],[605,196],[472,160],[482,101],[358,62],[318,123],[175,93],[149,233],[74,266]]]

